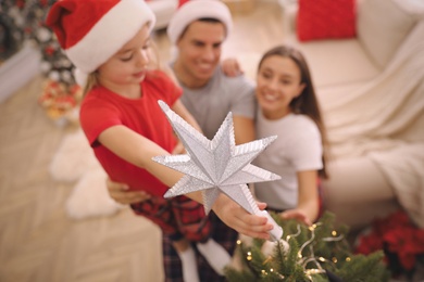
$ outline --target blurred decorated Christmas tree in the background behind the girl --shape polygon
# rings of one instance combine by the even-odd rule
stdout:
[[[58,120],[64,116],[75,118],[71,113],[82,99],[82,89],[73,78],[73,64],[45,24],[47,13],[55,1],[3,0],[0,4],[0,29],[3,28],[5,38],[0,43],[0,56],[7,60],[24,44],[32,44],[40,51],[40,70],[46,79],[39,103],[49,117]]]

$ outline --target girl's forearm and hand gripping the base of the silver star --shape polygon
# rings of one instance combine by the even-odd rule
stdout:
[[[264,203],[258,203],[260,209],[265,206]],[[237,232],[251,238],[270,239],[269,231],[273,229],[273,225],[267,222],[266,217],[249,214],[226,195],[219,196],[213,210],[225,225]]]

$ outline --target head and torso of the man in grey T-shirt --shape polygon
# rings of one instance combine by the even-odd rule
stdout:
[[[171,20],[167,35],[178,50],[172,68],[184,90],[182,101],[205,137],[212,139],[232,112],[236,142],[245,143],[254,139],[254,87],[244,76],[226,77],[219,65],[230,29],[225,4],[189,1]]]

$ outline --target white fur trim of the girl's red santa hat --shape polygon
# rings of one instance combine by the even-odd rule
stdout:
[[[142,0],[122,0],[114,5],[66,55],[83,74],[96,70],[114,55],[138,30],[155,17]]]

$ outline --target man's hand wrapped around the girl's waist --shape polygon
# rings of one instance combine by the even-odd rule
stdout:
[[[145,191],[128,191],[129,187],[124,183],[112,182],[108,177],[107,187],[109,195],[123,205],[136,204],[150,198]]]

